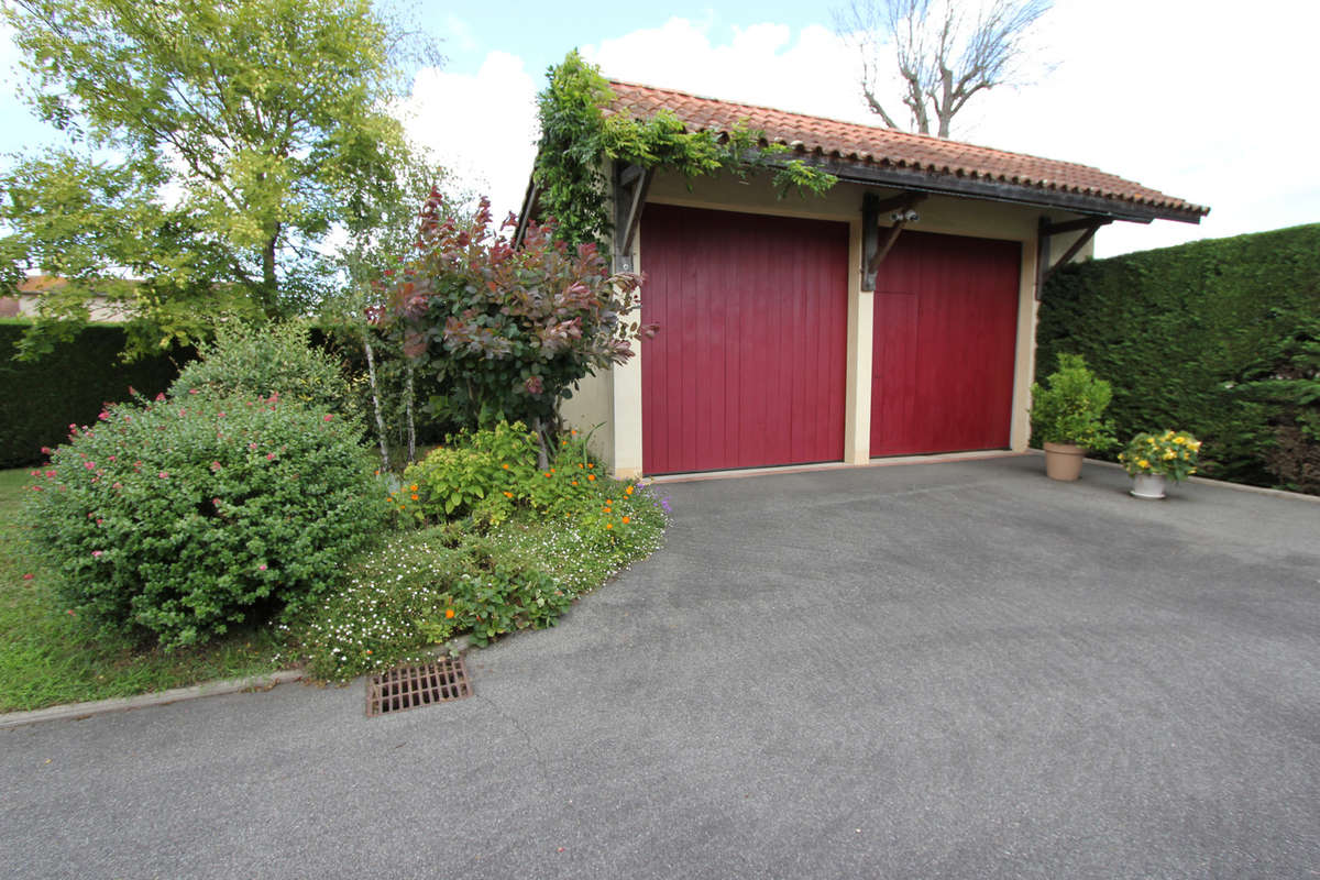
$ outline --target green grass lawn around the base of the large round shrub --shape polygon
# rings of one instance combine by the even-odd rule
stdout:
[[[141,650],[70,615],[24,536],[26,470],[0,471],[0,711],[41,708],[286,668],[269,631],[205,648]],[[33,575],[30,579],[25,575]]]

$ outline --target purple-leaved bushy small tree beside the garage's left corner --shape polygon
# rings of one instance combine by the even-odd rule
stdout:
[[[432,191],[421,211],[417,257],[389,292],[385,325],[403,334],[404,355],[447,389],[433,416],[461,426],[520,420],[541,438],[574,383],[632,356],[632,340],[655,326],[628,322],[640,278],[610,274],[594,244],[574,251],[552,226],[528,227],[513,249],[491,230],[490,204],[475,216],[446,210]]]

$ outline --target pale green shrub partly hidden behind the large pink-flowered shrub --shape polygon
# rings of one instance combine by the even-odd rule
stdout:
[[[297,322],[265,327],[222,325],[215,342],[199,346],[197,354],[201,359],[183,367],[170,396],[279,394],[312,409],[360,417],[360,394],[351,392],[334,358],[312,347],[308,329]]]

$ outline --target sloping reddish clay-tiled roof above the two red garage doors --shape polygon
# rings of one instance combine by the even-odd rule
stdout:
[[[1209,208],[1098,169],[1023,153],[859,125],[770,107],[700,98],[672,88],[611,80],[609,113],[648,119],[672,112],[688,131],[759,129],[841,179],[1057,207],[1148,223],[1199,223]]]

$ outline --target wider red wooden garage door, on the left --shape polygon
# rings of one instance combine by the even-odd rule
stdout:
[[[847,224],[648,204],[643,470],[843,456]]]

